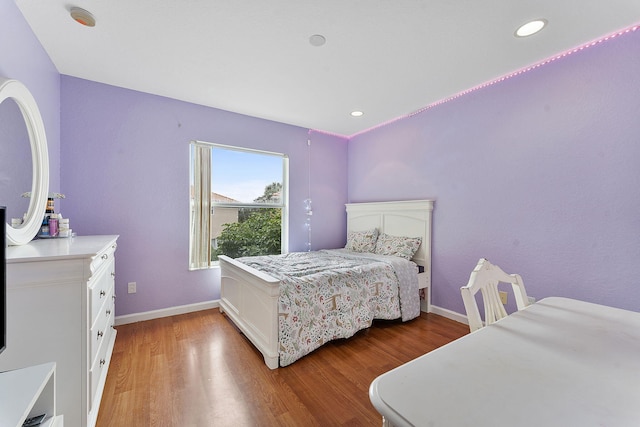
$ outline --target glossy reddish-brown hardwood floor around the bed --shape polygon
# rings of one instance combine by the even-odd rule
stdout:
[[[376,321],[270,370],[218,310],[117,329],[98,427],[379,426],[369,384],[469,332],[435,314]]]

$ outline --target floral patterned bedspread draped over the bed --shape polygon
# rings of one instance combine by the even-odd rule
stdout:
[[[281,281],[280,366],[353,336],[373,319],[420,314],[416,265],[402,258],[336,249],[238,261]]]

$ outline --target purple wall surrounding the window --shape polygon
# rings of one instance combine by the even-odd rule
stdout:
[[[62,77],[63,214],[79,235],[119,234],[117,315],[219,298],[219,271],[188,271],[189,141],[290,160],[290,250],[304,250],[308,131]],[[344,245],[347,142],[311,135],[313,248]],[[127,283],[137,282],[137,293]]]

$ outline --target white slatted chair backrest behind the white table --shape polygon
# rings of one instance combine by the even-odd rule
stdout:
[[[471,272],[469,283],[460,288],[471,332],[477,331],[483,326],[482,319],[480,318],[480,310],[478,309],[478,304],[475,299],[478,291],[482,292],[484,321],[486,325],[490,325],[503,317],[507,317],[507,311],[504,309],[498,291],[498,283],[500,282],[511,283],[518,310],[522,310],[529,305],[529,298],[527,298],[524,283],[518,274],[507,274],[497,265],[493,265],[488,260],[480,258],[476,268]]]

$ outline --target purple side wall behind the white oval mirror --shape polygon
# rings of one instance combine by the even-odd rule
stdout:
[[[51,189],[58,191],[60,75],[12,0],[0,0],[0,76],[22,82],[38,103],[47,134]],[[3,122],[3,126],[5,125],[7,123]],[[16,126],[24,128],[25,125],[21,122],[16,123]],[[0,141],[0,150],[5,143],[7,141]],[[0,171],[0,175],[3,172]],[[20,193],[30,190],[23,189],[22,185],[20,187],[16,189]]]

